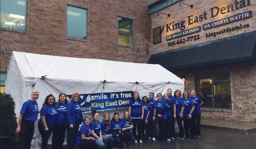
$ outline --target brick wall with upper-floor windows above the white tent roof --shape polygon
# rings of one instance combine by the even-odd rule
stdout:
[[[156,0],[27,0],[26,31],[1,29],[0,71],[12,51],[146,63],[150,57],[149,3]],[[66,37],[66,9],[88,10],[87,40]],[[134,46],[118,45],[118,17],[134,20]]]

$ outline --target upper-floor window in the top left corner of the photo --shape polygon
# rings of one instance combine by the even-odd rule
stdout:
[[[25,31],[27,0],[1,0],[0,2],[0,26]]]

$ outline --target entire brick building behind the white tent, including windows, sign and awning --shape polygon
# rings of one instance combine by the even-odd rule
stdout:
[[[203,118],[256,123],[253,0],[1,0],[0,6],[1,92],[12,51],[160,64],[185,78],[185,90],[196,90]]]

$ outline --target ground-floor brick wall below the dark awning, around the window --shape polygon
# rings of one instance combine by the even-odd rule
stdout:
[[[210,71],[230,72],[232,109],[201,108],[202,118],[256,123],[256,62],[205,67],[173,73],[180,78],[181,75],[186,75],[185,90],[190,92],[195,89],[194,75],[210,73]]]

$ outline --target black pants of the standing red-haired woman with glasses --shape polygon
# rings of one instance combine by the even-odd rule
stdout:
[[[75,148],[76,136],[79,131],[79,122],[73,124],[73,128],[70,128],[69,124],[66,124],[67,129],[67,147],[68,149]]]

